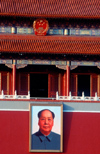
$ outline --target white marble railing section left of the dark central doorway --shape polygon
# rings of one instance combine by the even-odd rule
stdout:
[[[2,90],[0,99],[30,99],[30,91],[28,91],[28,95],[17,95],[16,91],[15,95],[4,95],[4,92]]]

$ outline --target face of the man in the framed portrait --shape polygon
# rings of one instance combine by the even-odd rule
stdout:
[[[46,136],[49,135],[52,130],[52,126],[53,126],[52,113],[48,110],[42,111],[41,116],[38,121],[38,125],[40,127],[40,131],[42,134]]]

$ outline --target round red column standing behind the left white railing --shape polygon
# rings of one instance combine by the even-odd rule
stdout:
[[[16,60],[13,60],[12,81],[12,93],[14,95],[16,90]]]

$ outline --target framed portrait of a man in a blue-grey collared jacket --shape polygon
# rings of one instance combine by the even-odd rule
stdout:
[[[31,151],[62,151],[62,105],[31,105]]]

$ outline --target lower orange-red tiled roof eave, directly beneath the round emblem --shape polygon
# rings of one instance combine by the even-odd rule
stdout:
[[[0,52],[100,55],[100,37],[0,35]]]

